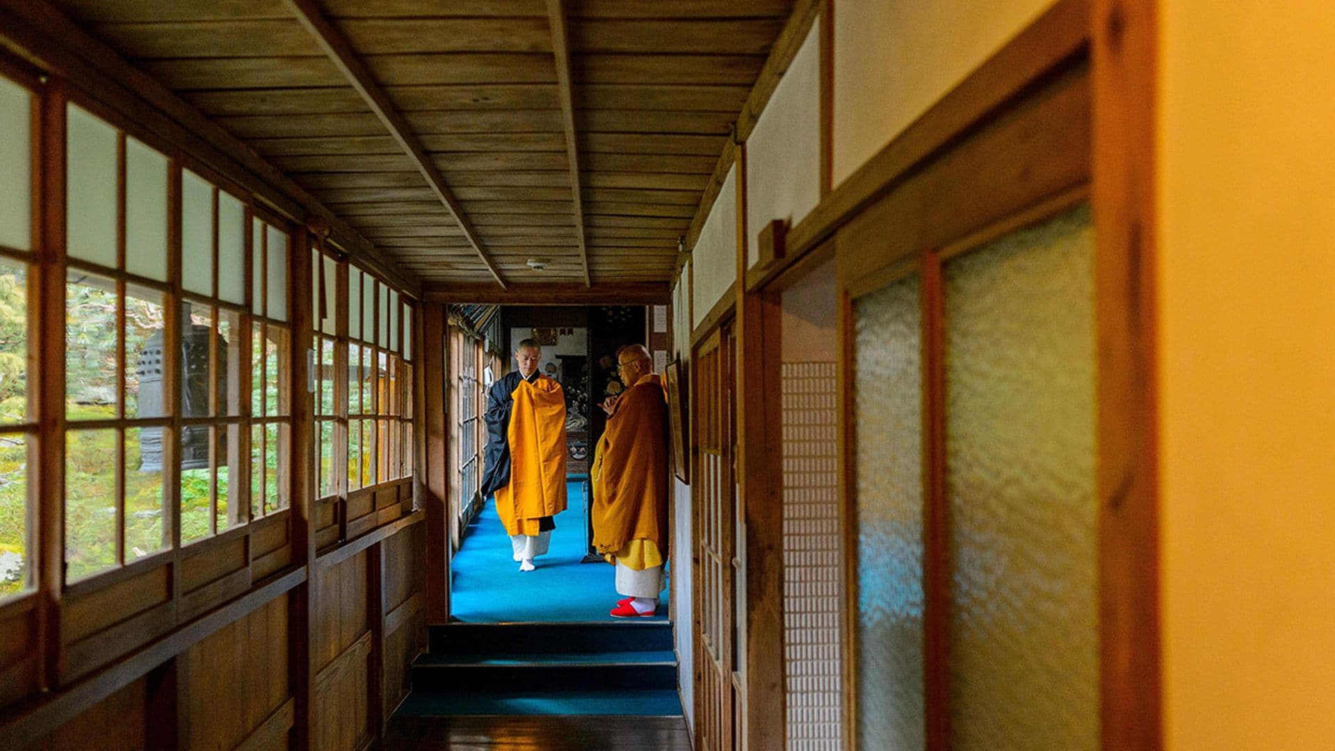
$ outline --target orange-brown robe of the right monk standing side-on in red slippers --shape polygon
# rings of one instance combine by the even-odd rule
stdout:
[[[662,565],[668,549],[668,401],[657,374],[622,394],[598,441],[593,544],[634,571]]]

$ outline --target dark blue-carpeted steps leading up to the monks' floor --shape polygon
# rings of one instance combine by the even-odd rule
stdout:
[[[663,621],[433,625],[402,716],[678,716]]]

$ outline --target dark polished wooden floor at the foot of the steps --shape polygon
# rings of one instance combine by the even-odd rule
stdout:
[[[394,718],[382,748],[515,751],[690,751],[682,718]]]

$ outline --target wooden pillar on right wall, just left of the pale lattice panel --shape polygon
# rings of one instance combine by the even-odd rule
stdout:
[[[737,160],[737,488],[746,524],[746,744],[782,748],[784,505],[780,299],[746,291],[746,147]],[[780,250],[780,249],[776,249]]]

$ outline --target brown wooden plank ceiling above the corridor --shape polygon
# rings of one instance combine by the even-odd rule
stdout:
[[[61,5],[405,269],[493,285],[669,279],[792,11],[792,0]],[[298,20],[303,7],[327,20],[334,48],[346,43],[388,119]]]

